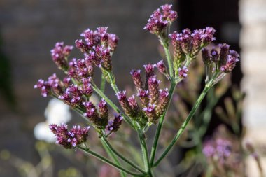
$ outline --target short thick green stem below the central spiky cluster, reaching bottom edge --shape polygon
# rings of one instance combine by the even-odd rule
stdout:
[[[142,155],[144,157],[144,167],[146,173],[148,174],[148,177],[153,177],[153,173],[151,171],[151,164],[148,158],[148,147],[146,144],[145,135],[141,132],[140,129],[138,130],[138,135],[139,135],[139,141],[141,142],[141,150],[142,150]]]

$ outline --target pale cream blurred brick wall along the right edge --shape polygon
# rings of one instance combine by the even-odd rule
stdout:
[[[244,104],[246,140],[251,141],[262,157],[266,168],[266,1],[241,0],[241,66],[244,79],[242,89],[247,97]],[[251,157],[247,161],[248,176],[260,176],[258,167]],[[266,175],[266,174],[265,174]]]

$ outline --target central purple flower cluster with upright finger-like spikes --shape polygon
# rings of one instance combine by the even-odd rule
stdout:
[[[118,92],[117,97],[123,110],[127,115],[137,120],[141,125],[146,125],[146,122],[156,123],[162,113],[165,112],[169,103],[168,90],[160,90],[158,80],[154,74],[154,68],[158,67],[158,70],[165,73],[165,64],[162,61],[158,64],[146,64],[144,65],[146,73],[146,83],[142,82],[141,71],[132,70],[130,73],[134,85],[137,88],[137,96],[140,99],[141,107],[137,103],[134,95],[127,98],[126,92]],[[142,117],[142,118],[141,118]]]

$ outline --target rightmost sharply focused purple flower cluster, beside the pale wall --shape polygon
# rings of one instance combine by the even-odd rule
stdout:
[[[210,66],[214,63],[218,71],[230,73],[239,62],[239,54],[235,50],[230,50],[230,45],[223,43],[218,45],[218,50],[203,48],[202,59],[205,65]]]

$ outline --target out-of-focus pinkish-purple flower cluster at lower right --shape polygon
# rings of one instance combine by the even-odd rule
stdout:
[[[218,162],[224,163],[232,154],[232,143],[222,138],[215,141],[207,141],[202,152],[206,157],[215,158]]]

